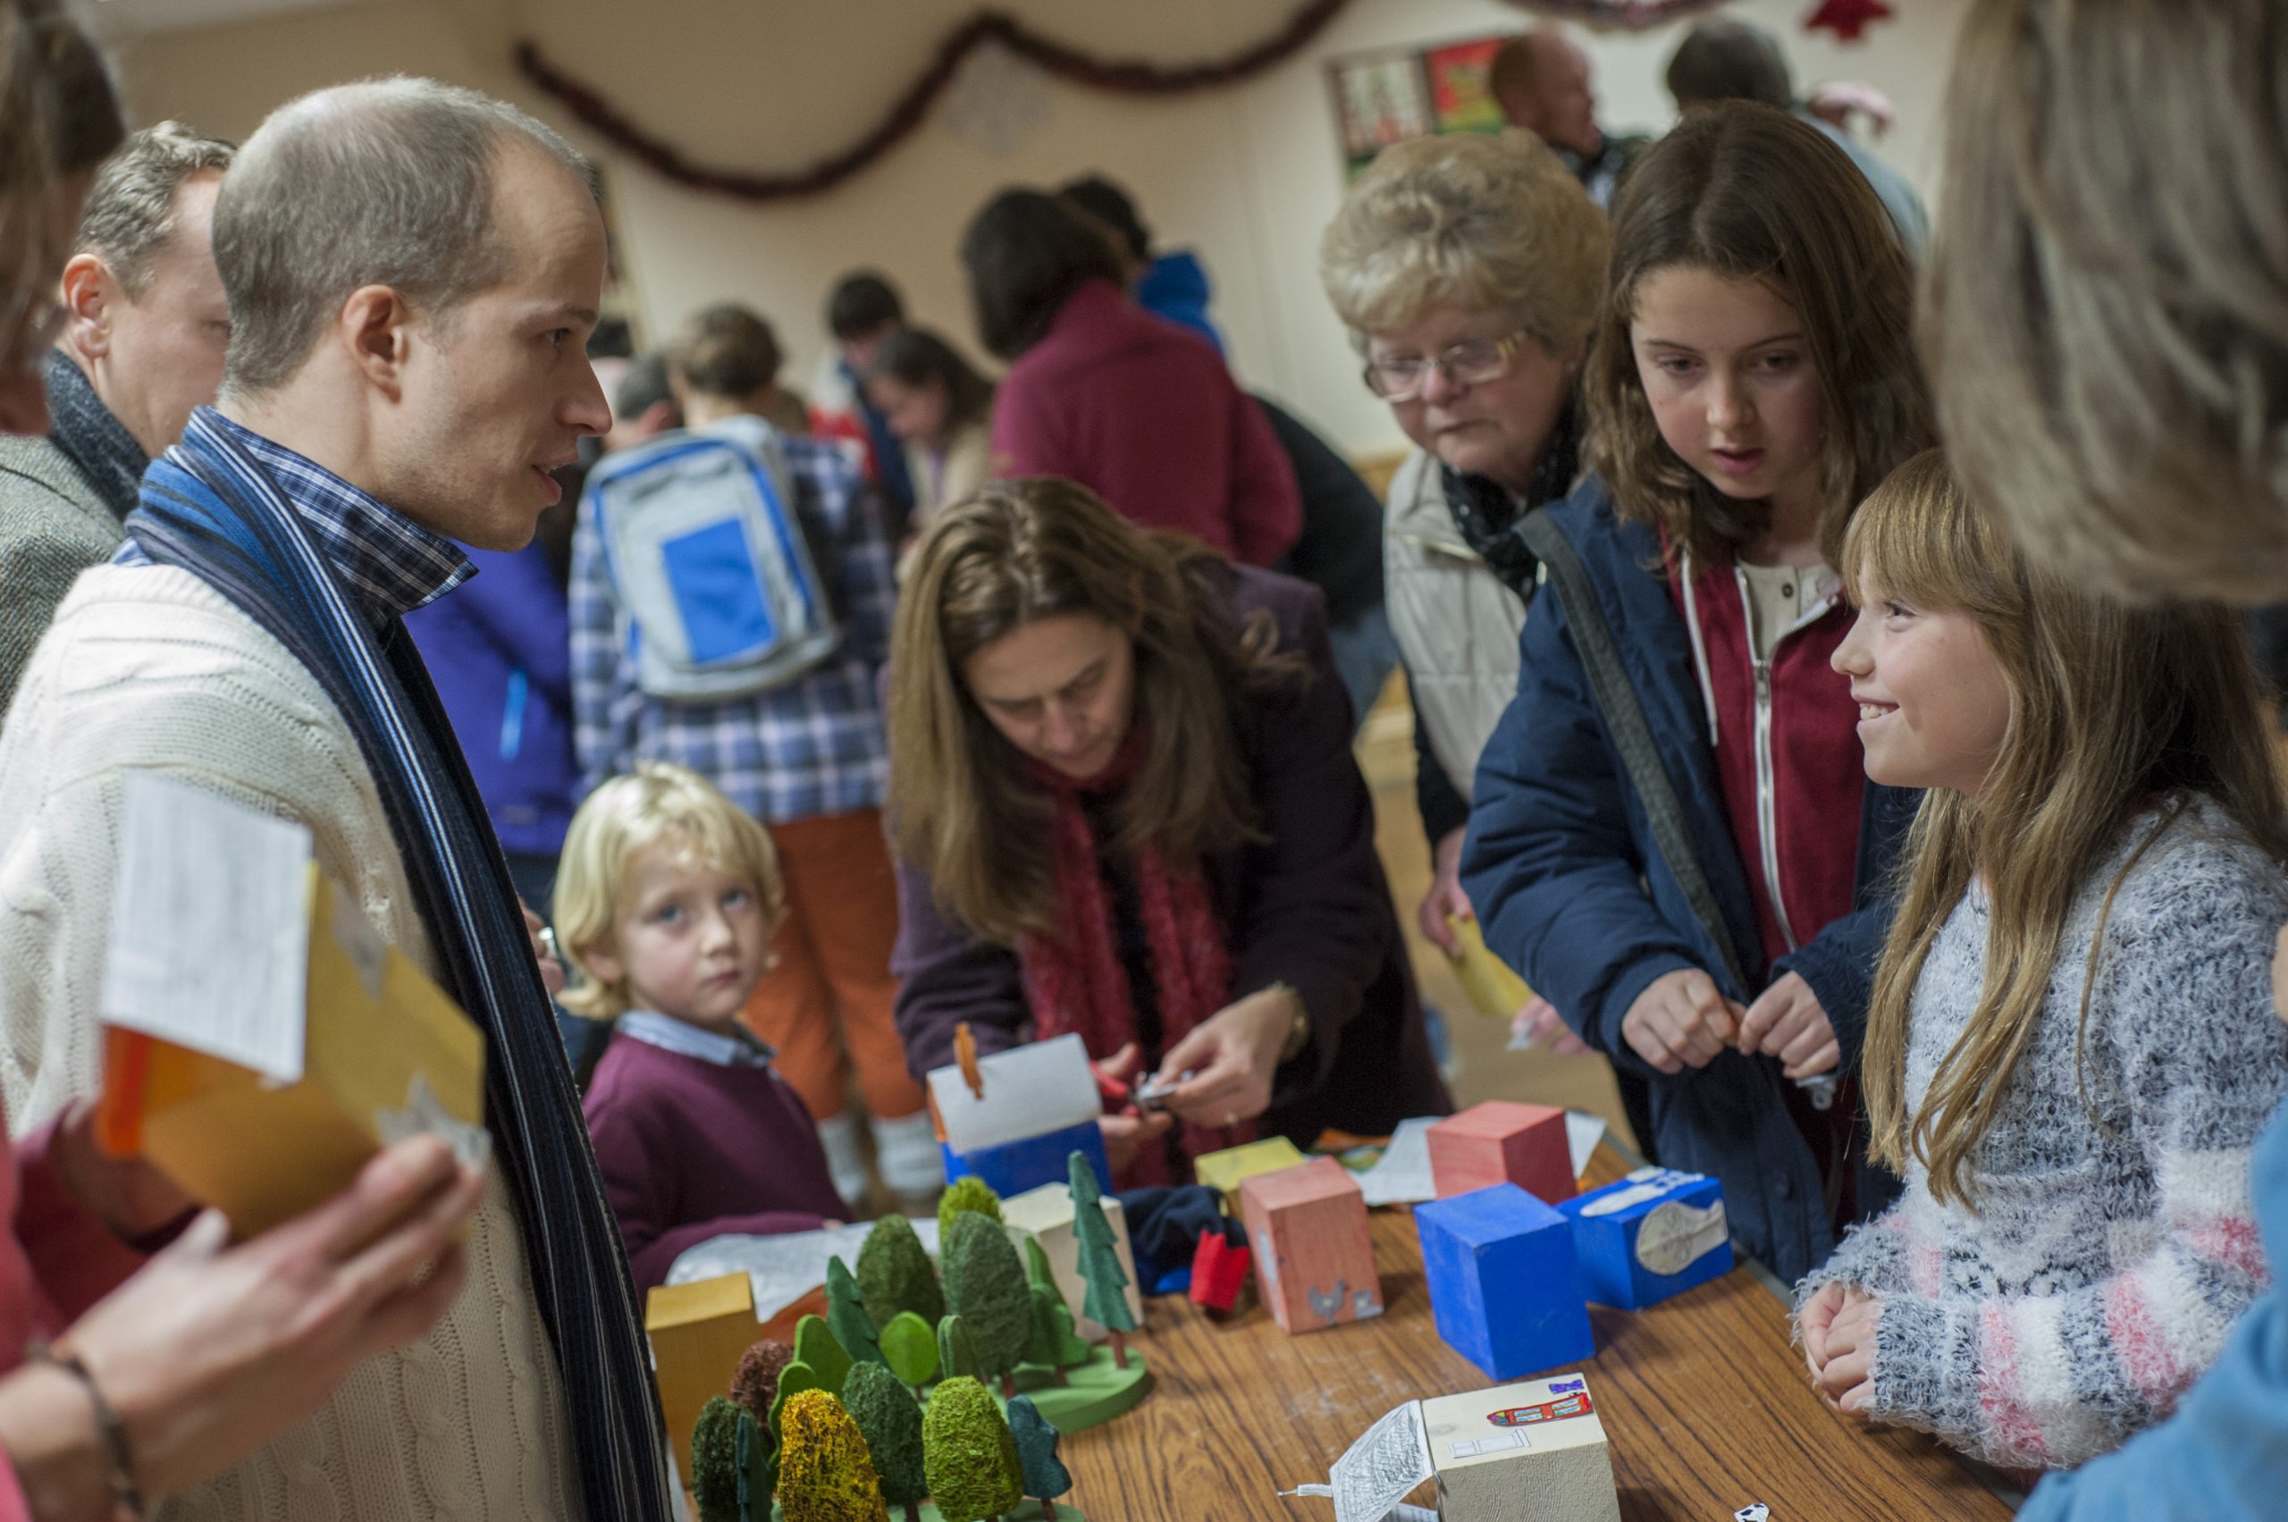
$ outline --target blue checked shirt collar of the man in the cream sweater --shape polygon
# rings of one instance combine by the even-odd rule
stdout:
[[[375,627],[437,602],[476,574],[460,545],[423,529],[316,460],[233,423],[213,407],[199,407],[199,417],[222,428],[270,471],[270,481],[318,538],[325,563],[348,584],[357,607]],[[149,565],[151,558],[142,545],[128,540],[117,563]]]

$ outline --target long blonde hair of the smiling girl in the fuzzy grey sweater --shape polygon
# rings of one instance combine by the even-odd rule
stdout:
[[[1936,1199],[1975,1204],[1970,1156],[2034,1039],[2073,902],[2123,819],[2162,806],[2160,824],[2107,886],[2082,980],[2082,1035],[2114,893],[2194,794],[2270,858],[2288,861],[2270,707],[2229,609],[2132,609],[2029,568],[1938,451],[1901,465],[1860,506],[1837,570],[1853,602],[1897,597],[1968,616],[2009,687],[2002,755],[1984,792],[1933,787],[1915,815],[1860,1064],[1869,1156],[1904,1172],[1913,1154],[1931,1170]],[[1915,982],[1977,877],[1991,902],[1979,1007],[1908,1117]]]

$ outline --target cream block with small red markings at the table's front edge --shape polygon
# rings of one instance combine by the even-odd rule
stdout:
[[[1613,1453],[1588,1380],[1423,1401],[1441,1522],[1620,1522]]]

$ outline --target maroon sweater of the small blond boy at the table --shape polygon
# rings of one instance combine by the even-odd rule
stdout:
[[[849,1208],[794,1085],[615,1035],[595,1064],[588,1137],[636,1289],[712,1236],[817,1231]]]

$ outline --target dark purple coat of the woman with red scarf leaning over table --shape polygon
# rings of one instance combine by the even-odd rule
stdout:
[[[1304,657],[1309,684],[1238,705],[1263,845],[1203,863],[1233,959],[1233,1000],[1290,984],[1311,1016],[1311,1044],[1279,1069],[1261,1117],[1309,1147],[1336,1126],[1380,1135],[1412,1115],[1446,1115],[1453,1101],[1423,1035],[1414,970],[1391,890],[1375,856],[1375,810],[1350,753],[1350,698],[1334,675],[1318,588],[1263,570],[1231,568],[1231,613],[1270,609],[1279,643]],[[1016,764],[1011,753],[1009,764]],[[1032,1014],[1016,952],[947,920],[929,879],[897,867],[897,1030],[920,1078],[954,1060],[954,1025],[977,1051],[1030,1037]],[[1089,1053],[1110,1057],[1112,1053]],[[1158,1053],[1144,1053],[1146,1067]]]

